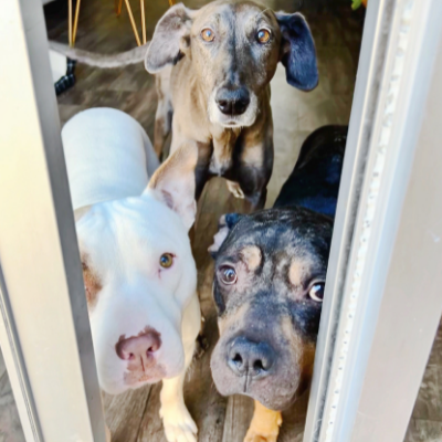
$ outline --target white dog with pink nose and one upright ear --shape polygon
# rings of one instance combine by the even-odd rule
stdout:
[[[158,165],[143,127],[94,108],[62,131],[101,387],[118,394],[162,379],[169,442],[196,441],[182,383],[201,317],[188,231],[198,148]]]

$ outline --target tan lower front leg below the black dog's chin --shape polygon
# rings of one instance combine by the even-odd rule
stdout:
[[[244,442],[276,442],[282,423],[281,411],[269,410],[255,401],[255,412]]]

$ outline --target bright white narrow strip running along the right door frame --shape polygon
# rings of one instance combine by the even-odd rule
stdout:
[[[370,266],[370,239],[372,236],[375,218],[379,215],[379,194],[386,189],[382,187],[382,178],[386,171],[387,154],[389,150],[401,146],[392,146],[391,133],[393,129],[394,112],[397,110],[400,86],[403,81],[404,60],[411,36],[411,20],[415,0],[403,0],[398,2],[397,23],[393,23],[389,50],[387,53],[387,65],[385,70],[385,86],[380,91],[378,120],[372,127],[369,164],[366,169],[365,188],[359,202],[359,222],[356,228],[356,238],[348,269],[346,282],[346,298],[340,311],[340,323],[335,343],[335,360],[329,379],[329,397],[324,412],[326,430],[324,442],[333,442],[335,435],[335,423],[338,406],[341,403],[343,385],[348,372],[350,361],[349,349],[355,340],[352,332],[355,320],[359,320],[358,305],[361,299],[364,275],[369,272]],[[391,61],[389,60],[391,59]],[[388,64],[391,64],[389,66]],[[372,245],[371,245],[372,246]]]

